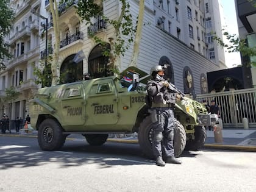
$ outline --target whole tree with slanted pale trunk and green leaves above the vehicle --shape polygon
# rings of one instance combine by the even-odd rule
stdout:
[[[110,49],[105,49],[102,54],[109,57],[109,64],[113,66],[114,73],[119,71],[119,58],[124,55],[127,49],[129,49],[130,44],[133,42],[133,37],[135,36],[135,44],[133,46],[133,56],[131,64],[136,66],[137,58],[139,53],[139,44],[141,40],[141,30],[143,26],[143,14],[144,14],[144,0],[140,1],[140,11],[138,14],[137,26],[134,27],[132,23],[132,15],[130,14],[130,4],[126,0],[119,0],[121,2],[121,12],[118,17],[114,20],[110,20],[104,15],[101,5],[94,3],[94,0],[79,0],[77,13],[86,21],[86,24],[91,23],[91,18],[96,18],[97,16],[102,16],[104,20],[111,24],[115,29],[114,38],[109,38]],[[90,34],[96,43],[105,46],[106,42],[99,38],[96,34]],[[127,39],[127,41],[125,40]],[[127,42],[127,43],[126,43]]]

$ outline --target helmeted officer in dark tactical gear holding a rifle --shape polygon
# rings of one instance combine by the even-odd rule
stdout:
[[[156,165],[165,166],[165,163],[181,164],[174,157],[174,105],[176,93],[171,90],[170,83],[163,79],[163,66],[151,68],[152,80],[148,81],[148,97],[151,98],[151,118],[154,138],[152,150],[156,158]],[[162,144],[161,144],[162,142]],[[163,161],[165,157],[165,162]]]

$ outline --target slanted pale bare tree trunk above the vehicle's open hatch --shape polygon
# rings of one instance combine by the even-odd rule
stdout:
[[[140,0],[139,4],[139,14],[138,14],[138,24],[135,35],[135,41],[133,45],[132,59],[129,66],[137,66],[138,55],[140,54],[140,41],[141,33],[143,27],[143,18],[144,18],[144,0]]]

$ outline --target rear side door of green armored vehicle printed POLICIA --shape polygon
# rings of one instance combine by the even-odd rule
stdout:
[[[61,101],[62,125],[82,125],[85,122],[83,84],[71,84],[64,88]]]

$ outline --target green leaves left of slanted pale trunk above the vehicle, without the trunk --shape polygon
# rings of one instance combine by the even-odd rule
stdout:
[[[132,24],[132,15],[130,14],[130,5],[129,2],[125,0],[121,1],[121,13],[119,18],[116,20],[110,20],[105,16],[102,12],[102,8],[95,4],[93,0],[79,0],[77,6],[77,14],[82,18],[82,20],[87,21],[87,24],[91,24],[91,18],[96,18],[97,16],[101,16],[105,20],[106,23],[112,24],[115,28],[115,40],[110,40],[110,49],[104,49],[102,55],[110,58],[110,65],[114,66],[115,60],[124,55],[127,49],[129,49],[130,43],[133,42],[133,37],[136,32],[136,28],[133,27]],[[93,38],[94,42],[97,44],[101,44],[102,47],[106,44],[104,40],[99,38],[93,32],[88,32],[89,37]],[[124,40],[127,39],[128,44]],[[113,71],[117,71],[116,66],[113,67]]]

